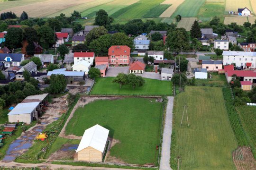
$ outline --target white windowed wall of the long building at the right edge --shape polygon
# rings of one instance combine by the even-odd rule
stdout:
[[[236,66],[245,66],[247,62],[252,63],[251,68],[256,68],[256,56],[223,56],[223,65],[230,65],[236,63]]]

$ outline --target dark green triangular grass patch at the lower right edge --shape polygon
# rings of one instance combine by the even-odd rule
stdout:
[[[247,134],[254,158],[256,158],[256,107],[239,106],[236,110]]]

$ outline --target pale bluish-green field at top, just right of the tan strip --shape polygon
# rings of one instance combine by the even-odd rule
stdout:
[[[172,17],[197,17],[197,14],[205,0],[185,0],[173,13]]]

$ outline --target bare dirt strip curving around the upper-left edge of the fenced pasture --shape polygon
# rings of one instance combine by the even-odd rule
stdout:
[[[69,120],[73,117],[75,110],[78,107],[83,107],[84,105],[86,105],[90,102],[93,102],[93,101],[96,101],[96,100],[106,100],[106,99],[116,100],[116,99],[120,99],[120,97],[85,97],[85,96],[80,97],[79,101],[76,103],[72,112],[70,113],[70,116],[68,117],[64,127],[62,128],[62,130],[59,134],[59,137],[64,137],[64,138],[67,138],[67,139],[82,139],[82,136],[65,135],[66,126],[67,126]]]

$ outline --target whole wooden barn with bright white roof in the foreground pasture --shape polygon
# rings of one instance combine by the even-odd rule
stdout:
[[[109,130],[95,125],[86,129],[76,151],[78,161],[102,161]]]

